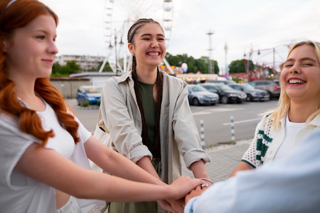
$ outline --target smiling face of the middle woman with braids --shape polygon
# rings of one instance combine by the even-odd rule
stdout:
[[[164,31],[157,23],[145,23],[135,34],[134,43],[128,44],[128,48],[136,58],[137,69],[154,69],[166,55]]]

